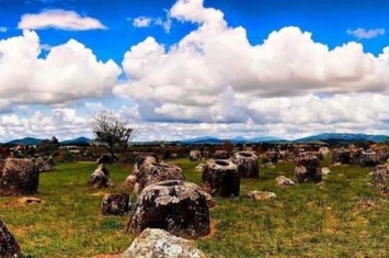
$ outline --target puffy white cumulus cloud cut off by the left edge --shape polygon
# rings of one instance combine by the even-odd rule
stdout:
[[[96,59],[91,49],[70,40],[39,58],[35,32],[0,41],[0,96],[7,104],[55,104],[101,98],[115,86],[119,67]],[[1,108],[1,103],[0,103]]]

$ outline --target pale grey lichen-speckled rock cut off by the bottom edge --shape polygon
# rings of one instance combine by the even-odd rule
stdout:
[[[195,243],[163,229],[146,228],[123,254],[122,258],[205,258]]]

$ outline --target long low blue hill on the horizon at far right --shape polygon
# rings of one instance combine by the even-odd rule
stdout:
[[[368,134],[348,134],[348,133],[324,133],[312,135],[299,139],[295,139],[295,143],[308,143],[312,141],[321,141],[328,144],[333,143],[352,143],[369,141],[375,143],[384,143],[387,138],[386,135],[368,135]]]

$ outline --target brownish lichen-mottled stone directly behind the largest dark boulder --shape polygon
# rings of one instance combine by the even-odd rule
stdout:
[[[134,192],[140,192],[147,186],[167,180],[185,180],[182,169],[174,164],[158,162],[155,157],[145,157],[135,164],[134,173],[136,184]]]

